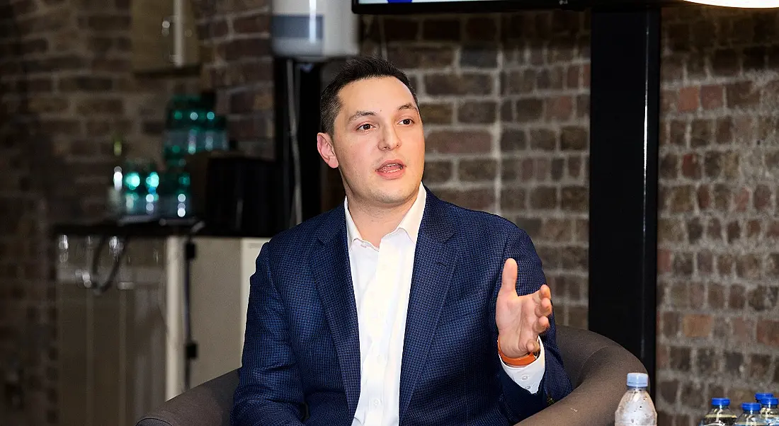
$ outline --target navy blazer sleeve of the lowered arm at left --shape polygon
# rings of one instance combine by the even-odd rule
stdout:
[[[233,426],[301,425],[305,400],[290,347],[284,302],[270,272],[270,245],[260,249],[250,279]]]

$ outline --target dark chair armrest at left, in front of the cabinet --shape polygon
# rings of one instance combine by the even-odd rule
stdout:
[[[163,403],[136,426],[230,426],[238,371],[213,378]]]

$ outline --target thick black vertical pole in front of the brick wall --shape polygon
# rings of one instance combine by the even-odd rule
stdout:
[[[589,327],[640,358],[654,398],[660,11],[591,22]]]

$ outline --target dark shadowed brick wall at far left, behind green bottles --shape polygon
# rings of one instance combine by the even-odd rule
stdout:
[[[111,133],[131,155],[159,157],[167,98],[197,88],[196,78],[133,76],[129,24],[126,1],[0,3],[2,424],[58,421],[51,224],[100,217]],[[16,372],[18,386],[6,386]]]

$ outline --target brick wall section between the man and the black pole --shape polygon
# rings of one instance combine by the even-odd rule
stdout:
[[[379,25],[366,23],[366,54],[382,52]],[[523,227],[557,321],[586,327],[589,16],[388,17],[384,29],[418,90],[425,183]]]

